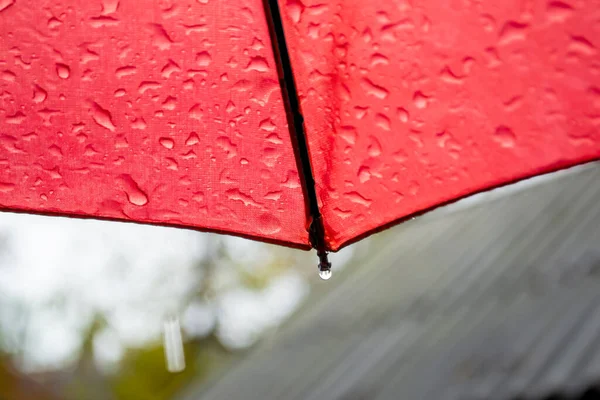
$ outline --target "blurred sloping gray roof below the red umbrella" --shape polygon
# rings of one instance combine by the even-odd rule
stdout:
[[[600,165],[502,192],[378,235],[273,340],[183,398],[540,398],[594,384]]]

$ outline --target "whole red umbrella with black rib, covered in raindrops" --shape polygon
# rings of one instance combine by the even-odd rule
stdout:
[[[594,1],[0,0],[0,21],[4,210],[312,246],[328,270],[600,156]]]

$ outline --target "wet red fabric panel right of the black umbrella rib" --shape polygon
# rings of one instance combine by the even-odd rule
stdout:
[[[594,1],[287,3],[326,240],[600,155]]]

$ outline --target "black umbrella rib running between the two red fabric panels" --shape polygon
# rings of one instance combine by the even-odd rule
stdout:
[[[285,41],[281,11],[277,0],[263,0],[263,4],[267,22],[269,24],[269,31],[271,33],[273,53],[278,64],[277,73],[279,74],[279,84],[281,86],[281,92],[283,93],[288,125],[290,127],[294,151],[296,153],[296,162],[298,164],[298,169],[302,171],[301,180],[304,187],[305,199],[307,201],[307,213],[310,220],[310,242],[319,255],[319,268],[321,270],[329,270],[331,264],[327,259],[325,229],[323,227],[321,211],[319,210],[319,203],[317,202],[315,178],[310,163],[306,133],[304,131],[304,117],[302,116],[302,110],[300,109],[298,90],[296,89],[296,81],[294,80],[292,71],[292,62],[290,61],[290,54]]]

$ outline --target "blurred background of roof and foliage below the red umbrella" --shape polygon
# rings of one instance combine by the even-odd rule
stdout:
[[[467,198],[331,261],[323,282],[313,252],[0,213],[0,398],[596,398],[598,164]]]

